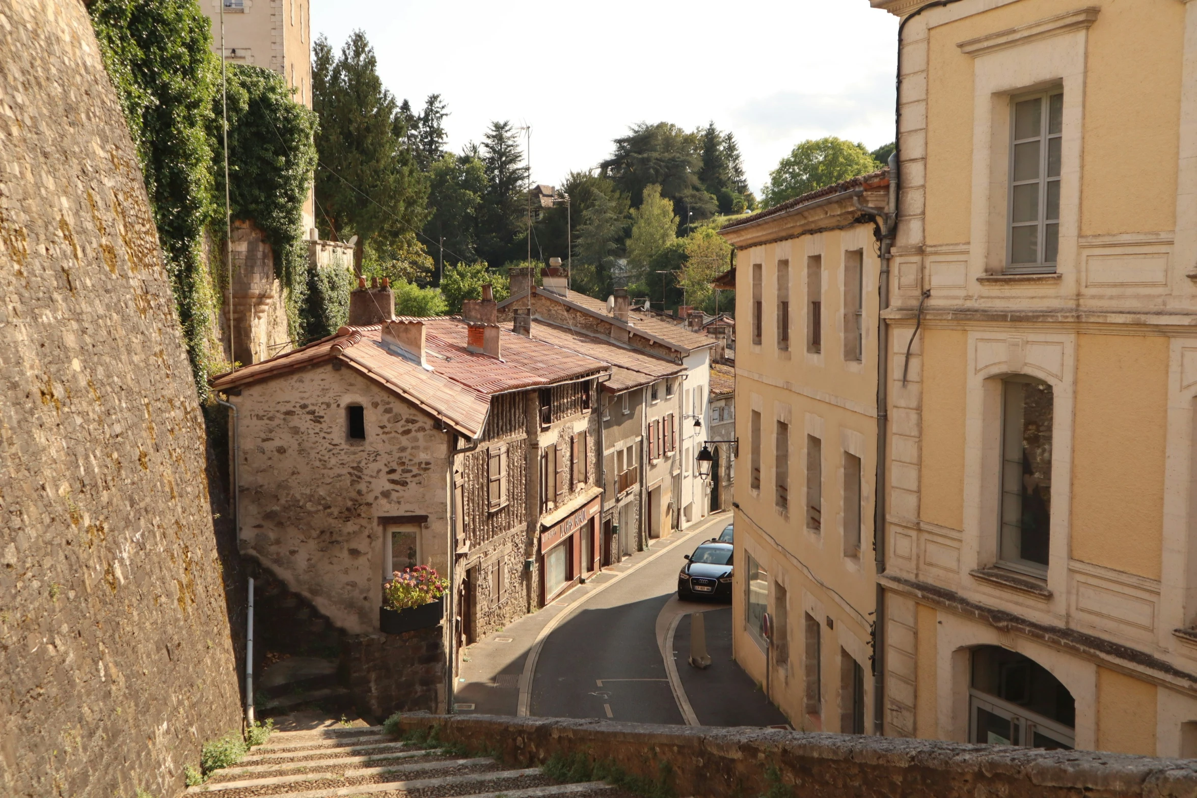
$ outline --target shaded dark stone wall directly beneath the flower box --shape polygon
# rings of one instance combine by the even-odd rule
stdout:
[[[443,626],[348,638],[342,658],[358,711],[378,723],[395,712],[444,712],[444,639]]]

